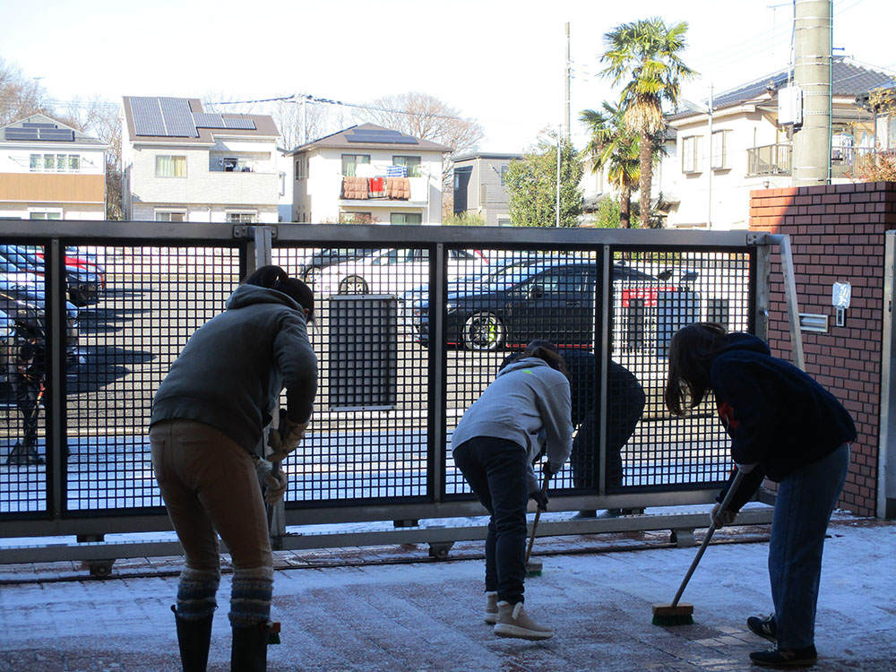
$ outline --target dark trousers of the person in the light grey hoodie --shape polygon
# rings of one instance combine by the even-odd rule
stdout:
[[[513,441],[477,436],[454,450],[454,463],[491,513],[486,536],[486,590],[523,601],[526,578],[526,451]]]

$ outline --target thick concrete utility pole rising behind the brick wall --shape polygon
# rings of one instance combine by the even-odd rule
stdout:
[[[803,90],[803,125],[793,135],[793,185],[831,181],[832,0],[795,0],[794,80]]]

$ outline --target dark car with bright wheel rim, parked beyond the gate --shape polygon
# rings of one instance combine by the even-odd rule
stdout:
[[[472,290],[449,291],[445,333],[449,345],[471,350],[524,348],[532,339],[565,347],[588,347],[594,341],[598,264],[588,260],[546,260],[509,267]],[[656,297],[674,291],[637,269],[614,264],[614,300],[625,292]],[[418,340],[429,343],[429,302],[411,308]]]

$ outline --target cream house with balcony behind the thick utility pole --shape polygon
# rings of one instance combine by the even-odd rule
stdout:
[[[792,185],[793,128],[802,122],[792,71],[781,70],[668,116],[676,142],[658,170],[668,228],[747,228],[751,189]],[[874,113],[857,96],[892,75],[845,56],[831,68],[831,184],[850,181],[875,151]],[[711,142],[710,142],[711,140]],[[711,227],[710,227],[711,223]]]

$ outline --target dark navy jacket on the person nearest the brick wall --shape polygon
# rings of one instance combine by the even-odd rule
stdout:
[[[724,337],[710,378],[731,456],[738,464],[758,462],[734,497],[735,511],[763,477],[780,481],[856,438],[849,412],[831,392],[797,366],[771,357],[751,334]]]

